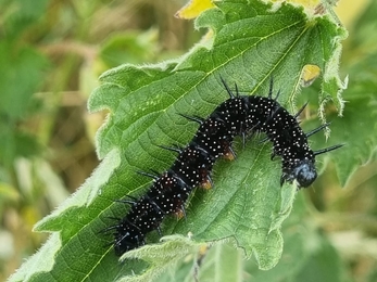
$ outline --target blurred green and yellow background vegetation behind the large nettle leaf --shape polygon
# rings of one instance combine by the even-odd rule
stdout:
[[[98,165],[93,133],[105,113],[89,116],[86,111],[97,77],[122,63],[175,57],[201,38],[192,23],[173,17],[183,4],[167,4],[166,0],[0,2],[0,280],[46,239],[46,234],[32,232],[34,223],[74,192]],[[347,1],[340,4],[359,12],[343,18],[350,36],[340,72],[350,75],[348,91],[363,90],[370,98],[361,111],[372,117],[377,77],[376,4],[360,2],[357,9],[347,8]],[[374,130],[376,120],[369,120]],[[356,137],[351,132],[350,138]],[[373,145],[366,140],[365,146],[372,146],[367,153],[375,151]],[[306,223],[322,234],[325,249],[334,247],[328,259],[336,260],[335,272],[347,281],[377,279],[375,183],[375,161],[359,168],[344,189],[329,164],[314,187],[300,193],[294,208],[300,210],[303,203]],[[291,223],[299,223],[294,215]],[[299,274],[301,281],[309,281],[310,269],[316,269],[313,266],[318,261],[313,258],[311,268]]]

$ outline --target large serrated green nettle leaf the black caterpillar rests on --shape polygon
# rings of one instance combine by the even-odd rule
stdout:
[[[150,179],[136,171],[162,172],[173,164],[176,156],[158,145],[186,145],[194,134],[198,125],[178,114],[205,117],[228,98],[221,77],[230,86],[237,82],[244,94],[260,95],[267,94],[273,77],[275,92],[281,90],[279,102],[288,105],[294,102],[303,66],[317,65],[326,78],[321,97],[331,97],[341,108],[343,85],[334,69],[345,37],[342,27],[327,15],[307,17],[288,4],[272,10],[259,1],[215,3],[196,21],[198,28],[212,29],[213,37],[185,56],[156,65],[122,65],[101,76],[89,110],[110,112],[97,137],[102,164],[77,193],[37,225],[37,231],[59,232],[59,247],[49,248],[47,243],[11,281],[150,281],[172,264],[172,252],[196,253],[203,243],[229,238],[247,257],[253,254],[261,269],[278,262],[280,226],[291,210],[296,187],[280,188],[280,162],[271,162],[272,145],[259,143],[263,137],[244,149],[236,139],[238,157],[216,163],[214,189],[192,194],[186,220],[164,220],[163,233],[180,234],[179,239],[152,245],[159,242],[152,232],[147,246],[125,255],[146,261],[124,257],[120,262],[109,245],[113,239],[99,233],[116,222],[109,217],[123,217],[128,210],[114,200],[148,190]],[[58,244],[55,233],[51,240]],[[154,259],[148,257],[151,247]],[[41,257],[50,264],[27,267]]]

